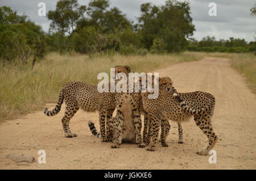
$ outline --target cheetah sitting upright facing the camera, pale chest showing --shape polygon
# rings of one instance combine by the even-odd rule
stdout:
[[[118,73],[125,73],[126,77],[129,77],[131,71],[129,66],[126,66],[126,71],[123,68],[115,68],[115,77]],[[121,80],[116,80],[118,83]],[[126,86],[129,87],[128,78]],[[145,145],[141,136],[141,99],[139,92],[115,92],[115,102],[117,106],[117,114],[113,119],[114,124],[114,145],[111,148],[120,148],[122,140],[129,137],[130,141],[134,141],[138,144],[139,148],[144,148]],[[129,131],[127,131],[129,127]],[[127,133],[124,135],[123,133]],[[123,137],[125,136],[125,137]]]

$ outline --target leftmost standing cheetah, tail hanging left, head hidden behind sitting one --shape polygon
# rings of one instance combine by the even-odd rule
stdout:
[[[118,66],[117,66],[118,67]],[[97,86],[88,85],[79,81],[66,83],[60,90],[59,101],[52,111],[45,108],[44,113],[47,116],[54,116],[60,112],[63,100],[66,103],[66,110],[63,119],[63,129],[65,137],[76,137],[69,129],[69,120],[81,108],[88,112],[99,112],[101,141],[105,142],[105,120],[108,123],[115,109],[115,94],[112,92],[98,92]]]

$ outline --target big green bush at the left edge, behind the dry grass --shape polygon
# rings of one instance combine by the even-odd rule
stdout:
[[[19,58],[27,64],[30,56],[43,58],[45,35],[40,26],[19,16],[10,7],[0,7],[0,58],[13,61]]]

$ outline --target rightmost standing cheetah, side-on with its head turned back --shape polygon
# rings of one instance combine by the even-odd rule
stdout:
[[[143,107],[151,120],[148,137],[152,137],[152,142],[147,150],[155,150],[160,124],[164,125],[160,120],[168,119],[181,123],[194,117],[196,125],[209,140],[207,149],[198,151],[197,154],[208,155],[218,140],[210,121],[215,105],[214,96],[201,91],[170,94],[174,89],[172,84],[169,77],[159,78],[159,96],[156,99],[147,99],[148,93],[142,93]],[[161,136],[162,146],[167,145],[165,133]]]

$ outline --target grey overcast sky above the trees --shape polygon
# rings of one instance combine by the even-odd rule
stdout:
[[[140,15],[140,5],[151,2],[163,5],[166,0],[110,0],[111,7],[118,7],[129,20],[137,22]],[[0,0],[0,6],[10,6],[18,14],[26,14],[35,23],[40,24],[44,31],[48,31],[49,20],[46,16],[38,15],[38,3],[46,3],[46,11],[54,10],[57,0]],[[89,0],[79,0],[80,5],[88,5]],[[216,39],[241,38],[254,41],[256,37],[256,17],[250,15],[250,9],[255,0],[189,0],[191,16],[196,31],[193,37],[201,40],[205,36],[215,36]],[[217,16],[209,16],[210,2],[217,5]]]

